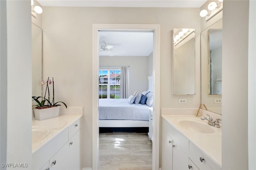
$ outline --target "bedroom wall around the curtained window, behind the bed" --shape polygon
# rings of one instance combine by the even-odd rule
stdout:
[[[100,68],[112,69],[114,67],[102,66],[129,66],[128,67],[128,96],[135,91],[143,92],[148,90],[148,59],[149,57],[136,56],[100,56]],[[152,69],[152,66],[151,68]]]

